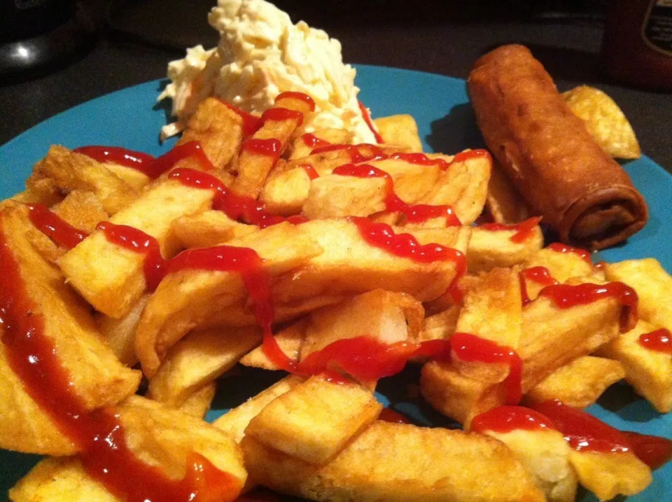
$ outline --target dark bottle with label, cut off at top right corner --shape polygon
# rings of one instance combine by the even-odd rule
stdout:
[[[618,81],[672,89],[672,0],[612,0],[602,62]]]

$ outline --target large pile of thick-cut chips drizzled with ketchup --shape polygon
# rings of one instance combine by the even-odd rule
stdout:
[[[281,95],[272,110],[255,118],[206,99],[155,161],[52,146],[3,202],[3,260],[85,409],[113,410],[132,454],[171,480],[193,474],[193,454],[235,480],[211,491],[196,475],[189,500],[256,486],[317,501],[645,489],[655,462],[577,409],[626,379],[670,411],[672,356],[641,340],[672,329],[659,263],[595,266],[544,248],[535,218],[472,225],[486,202],[499,222],[526,215],[489,191],[489,155],[423,154],[409,116],[375,121],[386,143],[352,145],[344,130],[302,134],[309,99]],[[222,265],[232,248],[259,259]],[[3,342],[10,328],[0,324]],[[49,456],[12,500],[144,500],[142,480],[129,494],[92,475],[90,451],[12,350],[0,344],[0,445]],[[379,419],[377,378],[407,360],[422,365],[423,398],[466,432]],[[207,424],[233,381],[218,378],[238,363],[293,375]],[[577,446],[582,431],[596,445]],[[617,447],[600,448],[605,437]]]

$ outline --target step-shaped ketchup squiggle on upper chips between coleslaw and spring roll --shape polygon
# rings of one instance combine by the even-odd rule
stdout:
[[[394,192],[392,176],[382,169],[367,164],[346,164],[337,167],[332,174],[339,176],[355,176],[357,178],[383,178],[385,180],[385,209],[388,212],[399,212],[409,222],[427,221],[431,218],[446,218],[446,225],[461,225],[458,217],[449,206],[430,206],[428,204],[407,204]]]

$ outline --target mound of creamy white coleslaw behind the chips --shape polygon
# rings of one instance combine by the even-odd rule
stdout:
[[[343,64],[339,41],[303,21],[294,25],[265,0],[219,0],[208,21],[220,33],[218,46],[190,48],[168,65],[171,83],[159,99],[172,98],[177,120],[163,127],[162,138],[183,130],[206,97],[262,113],[280,92],[295,90],[316,103],[305,132],[337,127],[351,131],[356,143],[375,142],[358,109],[356,71]]]

